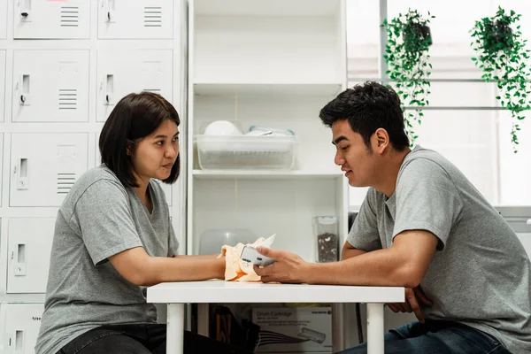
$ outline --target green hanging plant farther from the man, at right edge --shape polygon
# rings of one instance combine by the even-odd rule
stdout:
[[[517,132],[519,121],[524,119],[523,112],[530,108],[529,82],[531,71],[527,65],[529,50],[527,40],[522,38],[519,26],[515,26],[520,14],[507,13],[498,7],[496,15],[475,22],[472,32],[473,50],[476,57],[472,58],[483,74],[484,81],[497,81],[499,96],[496,99],[502,107],[511,112],[512,150],[516,153],[518,142]]]

